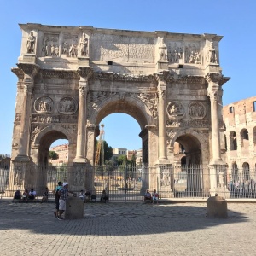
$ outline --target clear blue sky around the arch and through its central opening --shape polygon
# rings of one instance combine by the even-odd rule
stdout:
[[[2,1],[0,7],[0,154],[11,154],[17,78],[11,73],[20,55],[19,23],[94,26],[124,30],[215,33],[220,41],[224,105],[256,95],[255,0],[97,0]],[[113,148],[141,148],[135,119],[114,113],[102,120],[105,139]]]

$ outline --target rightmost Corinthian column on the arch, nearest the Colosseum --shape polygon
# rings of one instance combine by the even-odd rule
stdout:
[[[219,73],[210,73],[207,74],[207,94],[210,97],[211,101],[211,123],[212,123],[212,161],[211,164],[218,165],[223,164],[220,154],[220,139],[219,139],[219,117],[218,117],[218,105],[219,103],[219,94],[220,87],[219,81],[222,78],[222,75]]]

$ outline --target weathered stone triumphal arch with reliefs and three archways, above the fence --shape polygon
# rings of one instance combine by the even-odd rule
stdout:
[[[172,165],[176,142],[185,163],[209,165],[213,174],[224,166],[220,106],[229,78],[219,66],[221,36],[31,23],[20,29],[12,68],[15,166],[47,165],[49,146],[60,138],[69,143],[69,166],[93,166],[98,126],[110,113],[137,120],[149,166]]]

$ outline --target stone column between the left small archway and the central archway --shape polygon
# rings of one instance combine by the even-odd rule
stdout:
[[[88,79],[92,74],[91,67],[79,67],[77,70],[79,73],[79,119],[78,119],[78,135],[77,135],[77,151],[76,157],[73,160],[77,163],[86,162],[85,158],[85,145],[86,145],[86,97],[88,92]]]

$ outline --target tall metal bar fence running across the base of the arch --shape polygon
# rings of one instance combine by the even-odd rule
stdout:
[[[226,198],[256,198],[254,170],[215,171],[218,190]],[[156,189],[160,198],[207,198],[211,175],[208,166],[0,166],[0,196],[12,197],[17,189],[35,189],[38,197],[45,187],[55,189],[58,181],[67,181],[69,189],[91,189],[96,198],[102,190],[109,201],[141,201],[146,189]],[[88,183],[90,183],[88,185]],[[49,194],[53,196],[53,194]]]

